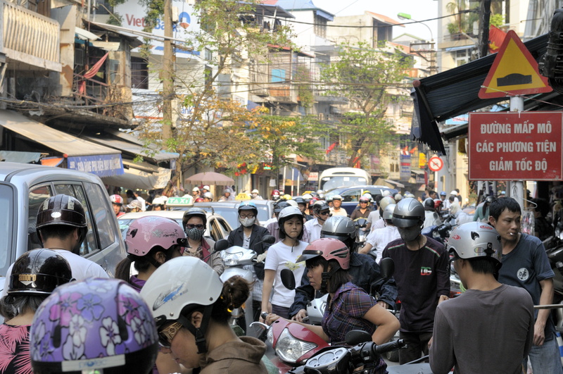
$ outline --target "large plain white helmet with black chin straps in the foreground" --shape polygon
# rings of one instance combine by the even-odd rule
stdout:
[[[174,274],[174,277],[170,277]],[[194,336],[201,336],[196,343],[198,353],[205,353],[207,330],[213,304],[221,297],[223,282],[215,270],[199,258],[182,256],[167,261],[156,269],[141,289],[141,296],[151,311],[157,327],[170,320],[179,320]],[[184,313],[191,313],[196,306],[204,306],[200,328],[187,320]]]

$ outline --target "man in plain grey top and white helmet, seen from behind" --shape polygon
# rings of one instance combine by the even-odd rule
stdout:
[[[447,249],[467,291],[436,308],[432,372],[455,366],[456,373],[522,373],[533,341],[533,302],[526,290],[498,282],[498,232],[485,223],[464,223],[452,231]]]

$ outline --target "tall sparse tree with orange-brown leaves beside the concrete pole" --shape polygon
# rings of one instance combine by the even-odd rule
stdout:
[[[182,114],[172,137],[164,139],[153,125],[146,126],[145,137],[160,142],[163,148],[179,154],[172,184],[182,170],[194,166],[229,166],[256,161],[259,144],[245,134],[255,114],[246,110],[246,102],[235,101],[228,92],[234,86],[235,70],[248,74],[251,61],[265,61],[269,45],[290,46],[290,31],[277,25],[265,31],[255,15],[258,0],[199,0],[194,12],[199,30],[186,32],[186,49],[200,51],[206,61],[191,63],[173,80],[182,94],[177,99]],[[163,0],[146,0],[146,23],[155,25],[163,11]],[[192,20],[194,22],[195,20]],[[240,87],[243,88],[240,88]],[[245,87],[246,86],[246,87]],[[248,82],[239,90],[248,91]],[[155,131],[157,130],[157,131]]]

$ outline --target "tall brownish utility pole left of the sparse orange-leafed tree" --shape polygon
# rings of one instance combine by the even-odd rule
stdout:
[[[172,54],[172,0],[164,0],[163,56],[163,142],[172,137],[172,99],[174,98],[174,61]]]

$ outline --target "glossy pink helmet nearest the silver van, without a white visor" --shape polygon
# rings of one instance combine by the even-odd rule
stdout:
[[[178,239],[185,238],[184,230],[172,218],[146,216],[129,225],[125,246],[128,254],[144,256],[156,246],[170,249],[179,244]]]

